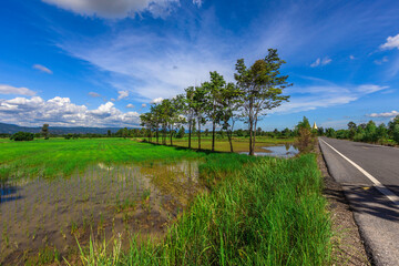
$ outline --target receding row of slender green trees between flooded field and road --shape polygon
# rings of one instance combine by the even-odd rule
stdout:
[[[147,129],[147,137],[156,143],[166,144],[176,129],[188,129],[188,147],[192,147],[193,127],[197,127],[198,149],[201,150],[201,127],[206,123],[212,126],[212,151],[215,150],[216,129],[226,132],[233,152],[233,131],[235,122],[244,121],[249,132],[249,154],[254,155],[257,123],[268,110],[288,101],[283,90],[291,84],[288,75],[280,75],[279,69],[285,63],[277,50],[269,49],[265,59],[246,66],[244,59],[237,60],[235,83],[226,82],[216,71],[211,79],[198,86],[188,86],[183,94],[153,104],[151,111],[142,114],[142,126]]]

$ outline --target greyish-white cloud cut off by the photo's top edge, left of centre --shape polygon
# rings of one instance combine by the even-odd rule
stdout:
[[[178,0],[42,0],[82,16],[105,19],[122,19],[149,11],[154,17],[164,17]]]

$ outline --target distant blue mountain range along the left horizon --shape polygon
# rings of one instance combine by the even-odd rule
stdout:
[[[86,133],[93,133],[93,134],[106,134],[106,132],[110,130],[111,132],[116,132],[122,127],[83,127],[83,126],[73,126],[73,127],[64,127],[64,126],[49,126],[50,134],[68,134],[68,133],[76,133],[76,134],[86,134]],[[23,132],[30,132],[30,133],[40,133],[40,127],[28,127],[28,126],[19,126],[14,124],[4,124],[0,123],[0,133],[8,133],[13,134],[19,131]]]

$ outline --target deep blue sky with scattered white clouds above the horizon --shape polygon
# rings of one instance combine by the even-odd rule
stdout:
[[[233,81],[278,49],[290,101],[264,130],[304,115],[324,127],[399,114],[399,2],[3,0],[0,122],[135,126],[152,102],[218,71]]]

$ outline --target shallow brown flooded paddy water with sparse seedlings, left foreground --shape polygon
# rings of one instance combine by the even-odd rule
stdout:
[[[90,237],[162,236],[202,191],[198,162],[96,164],[53,181],[19,180],[0,190],[0,265],[50,247],[66,255]]]

